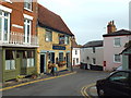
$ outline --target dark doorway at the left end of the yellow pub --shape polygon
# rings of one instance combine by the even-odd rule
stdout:
[[[40,73],[46,73],[46,54],[40,54]]]

